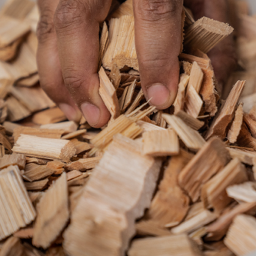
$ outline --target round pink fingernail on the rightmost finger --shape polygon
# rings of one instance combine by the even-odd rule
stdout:
[[[170,91],[165,85],[155,84],[148,88],[148,99],[151,98],[151,105],[163,106],[168,103],[170,98]]]

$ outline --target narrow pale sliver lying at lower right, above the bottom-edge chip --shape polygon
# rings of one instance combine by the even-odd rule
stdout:
[[[171,228],[172,234],[182,234],[191,233],[198,228],[203,227],[205,224],[209,224],[217,218],[217,214],[211,211],[204,210],[194,217],[190,218],[188,221],[184,221],[178,225],[178,227]]]

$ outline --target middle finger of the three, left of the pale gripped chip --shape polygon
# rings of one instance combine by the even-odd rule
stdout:
[[[108,15],[111,0],[60,0],[55,12],[58,55],[66,88],[91,126],[110,117],[98,95],[99,22]]]

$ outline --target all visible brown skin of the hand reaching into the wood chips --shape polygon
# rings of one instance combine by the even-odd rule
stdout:
[[[228,22],[226,0],[185,0],[195,18]],[[110,114],[98,95],[99,24],[111,0],[38,0],[38,72],[42,88],[69,120],[81,113],[100,128]],[[133,0],[135,45],[141,86],[151,105],[171,106],[178,89],[182,0]],[[235,66],[232,37],[209,52],[216,78],[224,85]]]

